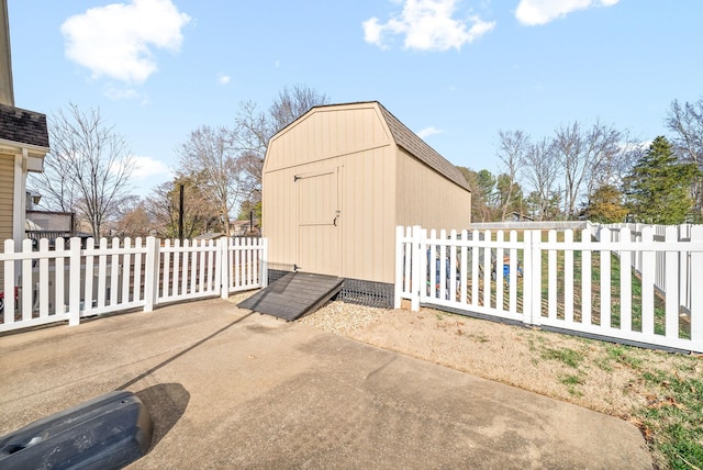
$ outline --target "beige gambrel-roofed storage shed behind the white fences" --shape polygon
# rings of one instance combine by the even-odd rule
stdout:
[[[274,278],[332,275],[392,294],[397,225],[470,220],[461,172],[379,102],[314,107],[269,142],[261,230]]]

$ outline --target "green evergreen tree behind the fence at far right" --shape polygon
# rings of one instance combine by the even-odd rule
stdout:
[[[691,186],[700,171],[677,160],[663,136],[654,139],[625,180],[628,208],[638,222],[680,224],[693,208]]]

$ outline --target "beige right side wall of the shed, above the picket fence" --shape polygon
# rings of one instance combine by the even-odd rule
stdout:
[[[471,193],[404,149],[398,152],[397,224],[464,230],[471,222]]]

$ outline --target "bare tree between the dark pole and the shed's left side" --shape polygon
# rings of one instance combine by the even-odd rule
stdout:
[[[242,158],[234,146],[233,132],[225,127],[202,126],[191,132],[179,148],[180,176],[191,178],[230,233],[230,217],[250,188]]]

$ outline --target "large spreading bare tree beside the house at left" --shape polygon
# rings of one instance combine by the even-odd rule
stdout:
[[[49,118],[49,138],[45,170],[33,184],[45,197],[44,205],[77,212],[99,237],[103,223],[127,195],[134,158],[124,138],[96,109],[83,113],[70,104],[58,110]]]

